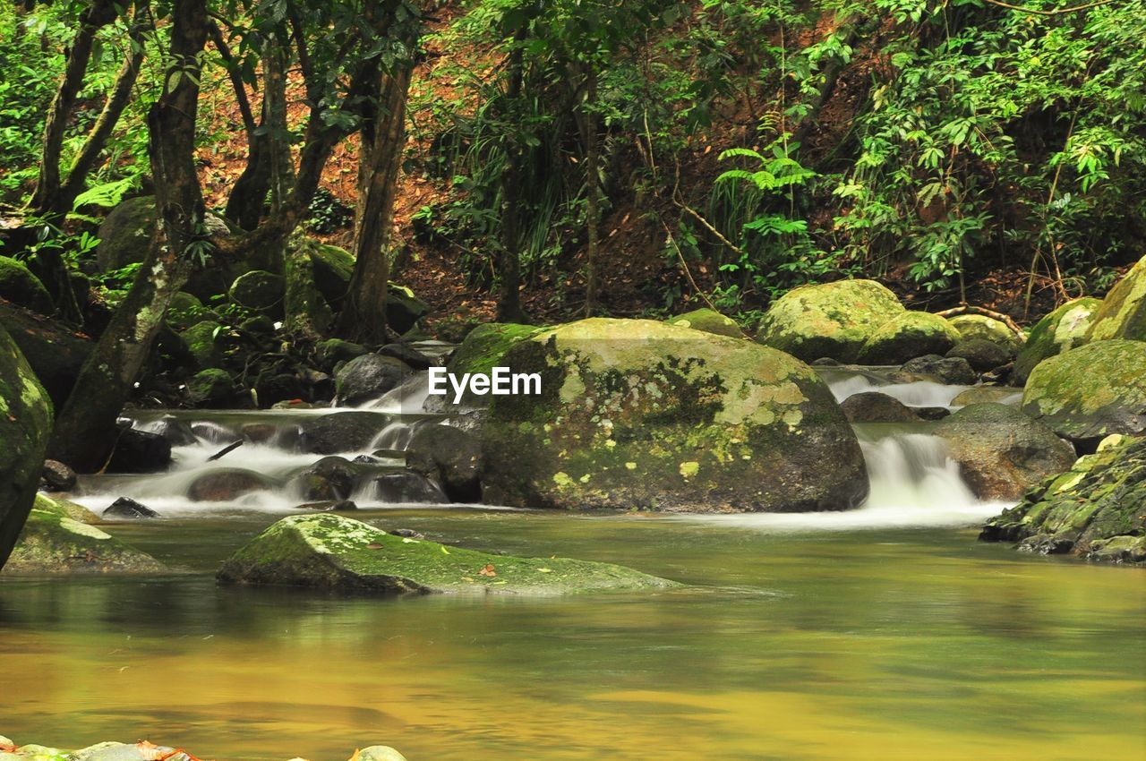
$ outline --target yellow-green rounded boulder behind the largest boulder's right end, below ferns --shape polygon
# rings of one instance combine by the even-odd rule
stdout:
[[[806,362],[855,362],[876,329],[903,312],[895,293],[871,280],[802,285],[769,307],[756,340]]]

